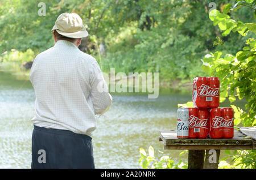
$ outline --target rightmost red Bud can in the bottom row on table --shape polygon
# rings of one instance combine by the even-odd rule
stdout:
[[[232,108],[222,108],[223,138],[234,136],[234,111]]]

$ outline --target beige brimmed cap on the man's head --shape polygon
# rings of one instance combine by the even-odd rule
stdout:
[[[60,35],[71,38],[82,38],[88,36],[82,19],[78,14],[65,12],[57,18],[51,32],[56,30]]]

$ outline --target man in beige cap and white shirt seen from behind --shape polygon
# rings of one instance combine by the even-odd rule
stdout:
[[[112,104],[96,59],[77,47],[88,36],[77,14],[61,14],[51,32],[56,44],[36,56],[31,168],[94,168],[95,114]]]

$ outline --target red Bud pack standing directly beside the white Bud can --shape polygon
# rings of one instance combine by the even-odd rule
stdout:
[[[209,133],[208,109],[188,108],[188,138],[207,138]]]

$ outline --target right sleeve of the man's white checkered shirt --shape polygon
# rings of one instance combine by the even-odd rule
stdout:
[[[108,85],[104,80],[100,66],[98,65],[96,60],[92,64],[91,75],[91,100],[93,103],[94,113],[101,115],[107,112],[112,105],[112,96],[108,92]]]

